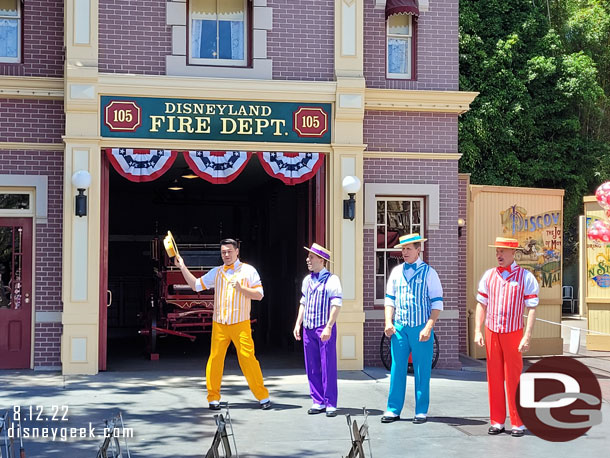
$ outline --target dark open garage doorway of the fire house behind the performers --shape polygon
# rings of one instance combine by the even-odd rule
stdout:
[[[146,333],[150,327],[151,301],[160,301],[162,271],[171,269],[164,262],[163,237],[168,230],[181,253],[187,251],[183,244],[204,244],[201,249],[206,253],[200,259],[211,266],[222,264],[218,242],[227,237],[238,239],[240,258],[257,268],[265,290],[261,302],[252,302],[257,354],[281,354],[301,361],[302,347],[295,343],[292,330],[301,281],[307,273],[303,246],[314,241],[316,219],[318,233],[320,226],[323,231],[323,216],[318,214],[324,210],[316,209],[316,200],[324,202],[324,198],[316,197],[316,189],[318,186],[322,189],[318,193],[323,194],[324,165],[312,179],[293,186],[268,175],[254,157],[228,184],[184,178],[193,175],[181,154],[166,173],[151,182],[134,183],[112,165],[108,168],[108,290],[112,295],[107,308],[108,369],[125,358],[149,356],[150,336],[138,331]],[[154,260],[155,239],[160,262]],[[181,283],[185,282],[181,279]],[[172,310],[160,313],[168,312]],[[194,342],[157,332],[160,359],[205,360],[210,334],[193,335],[197,337]]]

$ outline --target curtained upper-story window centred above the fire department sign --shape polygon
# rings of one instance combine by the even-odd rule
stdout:
[[[189,63],[248,63],[248,0],[190,0]]]

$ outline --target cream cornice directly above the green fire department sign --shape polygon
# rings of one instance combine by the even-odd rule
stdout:
[[[133,97],[185,97],[267,102],[332,103],[334,81],[276,81],[101,73],[98,94]]]

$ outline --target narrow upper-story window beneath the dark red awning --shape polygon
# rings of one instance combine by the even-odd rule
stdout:
[[[410,14],[393,14],[386,21],[388,78],[412,78],[414,22]]]

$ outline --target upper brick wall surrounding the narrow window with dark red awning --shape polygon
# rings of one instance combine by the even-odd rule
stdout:
[[[386,79],[385,11],[364,2],[364,77],[367,87],[458,90],[458,0],[432,0],[417,21],[416,79]]]

